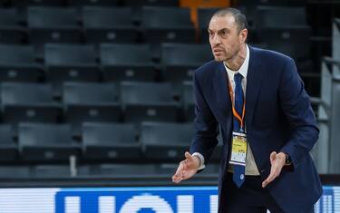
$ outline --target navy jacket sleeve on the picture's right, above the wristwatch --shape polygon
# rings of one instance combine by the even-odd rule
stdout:
[[[316,117],[309,96],[292,59],[287,61],[282,73],[278,95],[290,131],[287,144],[280,151],[286,152],[290,156],[293,167],[296,168],[312,150],[319,130],[316,126]]]

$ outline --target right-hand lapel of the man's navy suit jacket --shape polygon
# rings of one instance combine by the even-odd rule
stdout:
[[[262,70],[257,59],[256,50],[249,46],[250,58],[247,75],[246,91],[246,125],[251,125],[254,110],[257,104],[257,96],[262,83]]]

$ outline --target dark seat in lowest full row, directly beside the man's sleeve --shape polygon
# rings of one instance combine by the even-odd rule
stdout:
[[[182,160],[189,150],[192,123],[141,123],[141,149],[152,160]]]

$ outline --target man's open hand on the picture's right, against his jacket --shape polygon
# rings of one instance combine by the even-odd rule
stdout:
[[[271,152],[270,164],[271,164],[270,174],[267,177],[267,179],[265,179],[262,182],[262,188],[265,188],[270,182],[272,182],[280,175],[281,169],[286,164],[286,154],[283,152],[277,153],[276,151]]]

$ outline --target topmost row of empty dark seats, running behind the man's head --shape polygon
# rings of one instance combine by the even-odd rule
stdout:
[[[199,8],[199,37],[203,43],[209,42],[207,29],[211,16],[219,8]],[[246,15],[245,7],[239,8]],[[4,18],[0,21],[2,43],[28,42],[41,45],[44,43],[134,43],[145,41],[151,44],[164,42],[194,43],[197,36],[189,18],[188,8],[179,7],[142,7],[141,10],[124,7],[76,8],[28,7],[27,18],[20,18],[15,9],[2,9]],[[80,13],[80,14],[79,14]],[[304,35],[310,34],[306,25],[306,13],[303,7],[258,6],[250,18],[248,40],[266,42],[265,32],[257,34],[257,28],[275,29],[303,28]],[[57,18],[63,17],[63,18]],[[27,21],[26,21],[27,20]],[[27,22],[27,28],[24,23]],[[253,24],[254,23],[254,24]],[[140,25],[141,27],[136,27]],[[290,34],[295,34],[292,31]],[[15,34],[16,32],[16,34]],[[28,34],[28,36],[26,36]],[[282,33],[281,33],[282,34]],[[16,35],[16,36],[12,36]],[[285,36],[285,40],[295,41],[294,37]],[[26,41],[27,42],[27,41]]]

